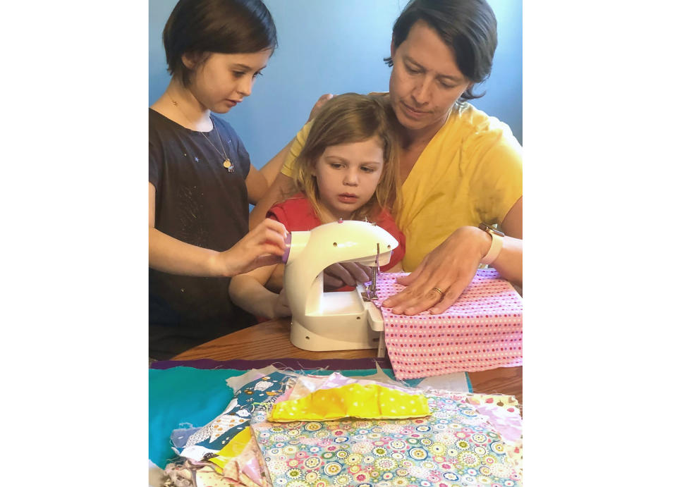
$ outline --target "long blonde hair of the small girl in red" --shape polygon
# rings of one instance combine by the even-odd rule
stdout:
[[[383,95],[346,93],[329,99],[312,122],[305,146],[293,166],[296,190],[303,192],[322,223],[333,218],[320,203],[315,164],[324,149],[338,144],[362,142],[374,136],[383,144],[383,172],[370,200],[350,219],[373,221],[382,209],[396,217],[400,202],[396,116]]]

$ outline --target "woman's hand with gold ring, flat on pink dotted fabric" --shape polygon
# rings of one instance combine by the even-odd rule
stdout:
[[[446,311],[477,273],[477,266],[489,252],[492,237],[472,226],[458,228],[437,248],[427,254],[417,268],[397,282],[407,286],[383,302],[395,314],[431,314]],[[439,289],[437,292],[434,288]]]

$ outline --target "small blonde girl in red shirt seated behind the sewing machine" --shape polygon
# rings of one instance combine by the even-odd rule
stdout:
[[[327,101],[294,166],[295,194],[272,206],[267,217],[290,231],[339,218],[367,218],[399,242],[382,271],[401,271],[405,238],[394,220],[400,185],[393,123],[394,113],[381,95],[348,93]],[[233,302],[267,319],[289,316],[284,290],[267,289],[274,287],[272,276],[282,267],[260,267],[234,277],[229,289]]]

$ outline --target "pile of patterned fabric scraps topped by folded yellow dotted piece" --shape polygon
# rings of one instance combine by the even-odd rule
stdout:
[[[274,367],[228,379],[224,412],[172,441],[165,486],[520,486],[514,397]]]

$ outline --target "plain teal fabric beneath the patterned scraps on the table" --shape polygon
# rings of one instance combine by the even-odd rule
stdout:
[[[384,374],[395,378],[391,369]],[[148,450],[149,458],[158,467],[164,468],[176,453],[171,449],[169,437],[174,429],[205,426],[219,416],[233,398],[233,389],[226,380],[241,376],[246,371],[237,369],[149,369],[148,376]],[[310,371],[307,371],[310,372]],[[329,375],[331,370],[313,370],[312,374]],[[370,376],[376,369],[340,371],[346,376]],[[404,381],[415,386],[421,379]]]

